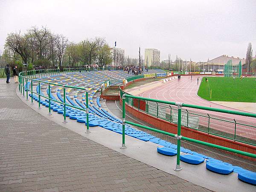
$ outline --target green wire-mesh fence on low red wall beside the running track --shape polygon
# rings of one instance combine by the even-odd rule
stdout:
[[[121,89],[119,91],[122,97],[125,92]],[[125,94],[129,95],[128,93]],[[178,108],[176,106],[139,98],[127,98],[126,102],[139,111],[177,124]],[[256,145],[256,124],[252,122],[183,109],[181,111],[181,125],[218,137]]]

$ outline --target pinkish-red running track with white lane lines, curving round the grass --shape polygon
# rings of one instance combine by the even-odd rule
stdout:
[[[199,78],[199,83],[197,84],[197,78]],[[192,104],[192,105],[201,105],[206,107],[212,107],[212,108],[221,108],[221,109],[227,109],[227,110],[233,110],[233,111],[240,111],[233,108],[228,108],[223,105],[218,105],[209,101],[206,101],[204,99],[201,99],[197,95],[198,87],[200,85],[200,82],[202,80],[202,76],[181,76],[181,79],[178,81],[178,79],[174,79],[172,81],[167,81],[165,84],[153,88],[151,90],[147,90],[143,93],[140,93],[138,96],[142,97],[148,97],[153,99],[160,99],[165,101],[172,101],[172,102],[182,102],[186,104]],[[246,116],[239,116],[239,115],[233,115],[233,114],[227,114],[227,113],[219,113],[215,111],[205,111],[200,109],[193,109],[188,108],[192,111],[198,111],[202,113],[209,113],[212,115],[217,116],[223,116],[228,117],[231,119],[237,119],[245,122],[251,122],[256,123],[256,118],[253,117],[246,117]],[[214,124],[214,123],[213,123]],[[233,133],[234,128],[230,128],[225,126],[224,124],[221,125],[224,127],[224,130],[230,133]],[[218,129],[220,126],[218,126]],[[230,129],[230,130],[227,130]],[[237,134],[247,137],[247,134],[249,134],[250,138],[256,139],[256,128],[239,128],[237,130]]]

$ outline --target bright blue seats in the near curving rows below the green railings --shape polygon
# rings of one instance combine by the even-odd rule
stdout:
[[[47,90],[48,92],[48,90]],[[52,97],[52,94],[50,93],[50,96]],[[62,99],[59,92],[57,92],[58,99]],[[67,97],[66,97],[67,98]],[[71,105],[74,106],[80,106],[84,109],[86,109],[86,104],[84,100],[82,100],[84,103],[80,102],[79,99],[75,99],[75,102],[68,97],[67,99]],[[83,98],[83,97],[82,97]],[[99,97],[98,97],[99,98]],[[96,99],[97,105],[101,107],[100,100]],[[36,96],[33,96],[33,99],[37,99]],[[43,103],[47,107],[47,99],[45,100],[46,103]],[[48,101],[49,102],[49,101]],[[89,107],[89,126],[100,126],[102,128],[114,131],[116,133],[122,134],[122,120],[117,119],[115,116],[112,116],[108,111],[104,109],[97,108],[93,103],[91,103],[92,106]],[[48,104],[49,107],[49,104]],[[53,111],[57,111],[58,113],[63,113],[63,106],[56,104],[55,102],[51,102],[51,108]],[[86,113],[81,112],[80,110],[74,110],[70,107],[67,107],[67,113],[66,116],[69,116],[70,119],[76,119],[77,122],[86,122]],[[157,151],[161,154],[165,155],[175,155],[177,154],[177,145],[166,142],[165,140],[161,140],[160,138],[154,137],[150,134],[147,134],[143,131],[137,130],[133,128],[131,125],[125,125],[125,134],[143,140],[143,141],[150,141],[153,143],[157,143],[158,145],[161,145],[163,147],[157,148]],[[183,154],[181,154],[180,160],[186,163],[190,164],[199,164],[206,162],[206,169],[216,172],[219,174],[230,174],[231,172],[238,173],[238,178],[240,180],[243,180],[247,183],[256,184],[256,173],[250,172],[248,170],[242,169],[239,166],[233,166],[229,163],[221,162],[219,160],[213,159],[212,157],[204,156],[203,154],[198,154],[194,151],[190,151],[185,148],[180,149]]]

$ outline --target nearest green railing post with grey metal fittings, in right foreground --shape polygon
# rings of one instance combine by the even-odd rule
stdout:
[[[175,167],[175,171],[180,171],[182,168],[180,168],[180,140],[181,140],[181,108],[183,103],[175,103],[175,105],[178,107],[178,125],[177,125],[177,135],[175,135],[175,138],[177,139],[177,163]]]

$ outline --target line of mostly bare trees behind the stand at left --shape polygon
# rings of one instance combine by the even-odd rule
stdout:
[[[112,62],[111,48],[104,38],[86,38],[74,43],[62,34],[54,34],[47,27],[36,26],[27,29],[24,34],[20,31],[9,33],[0,55],[1,67],[6,63],[11,66],[27,64],[30,68],[102,67]]]

